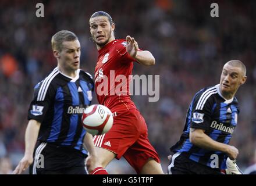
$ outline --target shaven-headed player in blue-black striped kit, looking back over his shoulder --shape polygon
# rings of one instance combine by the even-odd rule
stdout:
[[[245,82],[246,66],[230,60],[223,66],[219,84],[195,94],[180,141],[170,148],[174,155],[169,174],[221,174],[227,158],[237,158],[239,151],[229,141],[239,114],[234,95]]]

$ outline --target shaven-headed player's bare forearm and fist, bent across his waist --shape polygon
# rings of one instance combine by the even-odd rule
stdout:
[[[225,152],[230,159],[234,160],[237,158],[239,151],[232,145],[223,144],[212,140],[208,135],[204,133],[204,130],[190,128],[190,142],[200,148],[208,149],[211,151]]]

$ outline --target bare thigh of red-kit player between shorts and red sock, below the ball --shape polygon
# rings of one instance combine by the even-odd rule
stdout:
[[[95,147],[98,154],[98,163],[101,167],[106,167],[116,156],[115,153],[100,147]]]

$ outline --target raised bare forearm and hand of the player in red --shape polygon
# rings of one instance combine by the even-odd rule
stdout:
[[[138,43],[130,35],[126,37],[126,51],[140,64],[146,66],[155,65],[155,58],[152,53],[150,51],[138,51]]]

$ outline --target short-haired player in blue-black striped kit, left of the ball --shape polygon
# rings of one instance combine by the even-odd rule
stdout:
[[[29,166],[31,174],[86,174],[87,156],[88,171],[97,167],[93,137],[81,124],[94,82],[80,69],[80,42],[74,33],[62,30],[52,37],[52,49],[58,66],[34,87],[26,149],[15,174]]]

